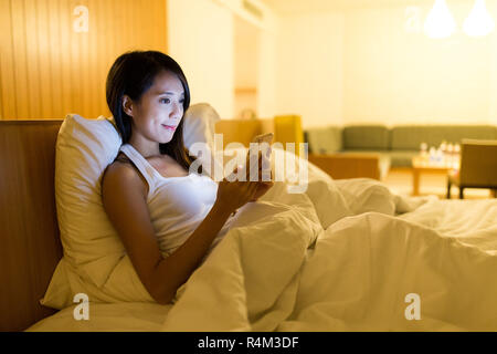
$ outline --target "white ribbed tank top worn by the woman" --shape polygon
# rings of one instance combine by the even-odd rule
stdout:
[[[120,152],[135,164],[147,180],[147,204],[163,257],[178,249],[205,219],[214,205],[218,184],[210,177],[190,173],[184,177],[163,177],[130,144]],[[212,250],[230,229],[230,217],[212,242]],[[208,253],[209,253],[208,252]]]

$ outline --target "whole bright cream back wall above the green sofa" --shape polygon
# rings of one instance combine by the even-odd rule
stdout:
[[[421,2],[423,24],[432,2]],[[497,33],[468,38],[474,1],[448,1],[450,39],[404,31],[405,3],[281,18],[277,111],[304,127],[353,123],[497,123]],[[497,21],[497,3],[487,1]],[[496,30],[497,31],[497,30]]]

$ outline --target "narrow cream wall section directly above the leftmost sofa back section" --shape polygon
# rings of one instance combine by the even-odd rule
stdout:
[[[283,15],[276,65],[276,111],[303,126],[343,121],[343,14]]]

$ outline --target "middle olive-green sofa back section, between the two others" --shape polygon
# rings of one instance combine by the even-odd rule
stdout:
[[[350,125],[343,127],[343,149],[387,150],[390,145],[390,133],[383,125]]]

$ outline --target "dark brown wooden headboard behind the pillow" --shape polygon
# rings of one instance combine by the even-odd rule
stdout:
[[[0,331],[54,313],[40,305],[62,257],[55,142],[62,121],[0,121]]]

